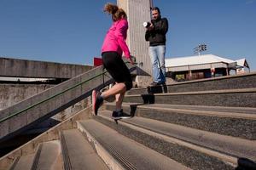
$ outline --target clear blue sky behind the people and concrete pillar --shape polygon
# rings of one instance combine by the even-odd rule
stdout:
[[[90,2],[90,3],[89,3]],[[0,56],[92,65],[101,55],[113,0],[0,0]],[[166,58],[204,54],[246,58],[256,71],[256,0],[154,0],[169,20]],[[132,29],[132,28],[131,28]]]

